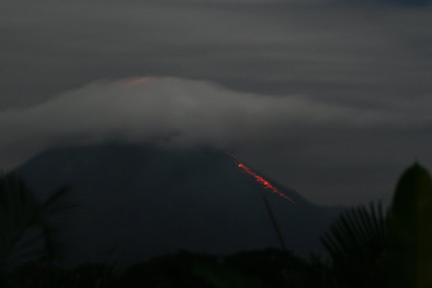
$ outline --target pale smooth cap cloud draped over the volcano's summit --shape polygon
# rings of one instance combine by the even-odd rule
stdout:
[[[341,152],[326,147],[331,143],[320,139],[323,131],[334,134],[332,141],[339,145],[352,145],[350,138],[356,137],[345,137],[350,133],[372,129],[380,138],[382,130],[398,132],[400,128],[431,125],[432,115],[422,110],[430,104],[427,100],[418,106],[395,104],[392,109],[380,110],[296,95],[241,93],[175,77],[99,81],[43,104],[1,112],[0,148],[4,158],[16,147],[26,150],[23,159],[56,145],[104,141],[204,145],[245,155],[264,148],[276,153],[276,163],[291,165],[307,163],[310,149],[328,150],[329,157]],[[371,148],[380,152],[379,143],[363,144],[374,145]],[[359,147],[365,147],[363,144]],[[295,150],[289,156],[287,149],[292,147]]]

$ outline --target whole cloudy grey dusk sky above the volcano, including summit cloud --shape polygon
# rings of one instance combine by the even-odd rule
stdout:
[[[388,199],[415,158],[432,168],[430,3],[3,0],[1,166],[213,145],[313,202]]]

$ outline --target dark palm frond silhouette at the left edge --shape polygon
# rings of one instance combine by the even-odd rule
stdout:
[[[50,264],[60,257],[54,216],[72,205],[63,201],[63,187],[45,201],[16,176],[0,177],[0,276],[10,281],[10,272],[32,262]],[[8,280],[9,279],[9,280]]]

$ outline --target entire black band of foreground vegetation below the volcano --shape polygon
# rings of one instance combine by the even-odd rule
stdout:
[[[49,220],[68,206],[59,204],[65,193],[38,202],[23,182],[1,179],[0,287],[432,287],[432,182],[418,164],[401,176],[389,211],[370,204],[339,216],[321,238],[325,261],[267,249],[60,268]],[[39,238],[29,237],[35,229]]]

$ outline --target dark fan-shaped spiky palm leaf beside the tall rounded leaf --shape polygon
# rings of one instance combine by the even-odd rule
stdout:
[[[341,214],[321,237],[333,262],[337,283],[348,287],[382,287],[385,219],[381,204],[357,206]]]

